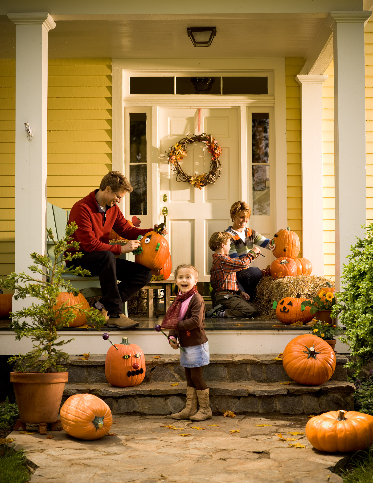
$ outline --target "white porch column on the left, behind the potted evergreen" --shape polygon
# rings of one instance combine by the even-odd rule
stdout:
[[[15,24],[15,271],[45,253],[48,13],[8,14]],[[32,128],[28,140],[25,123]]]

